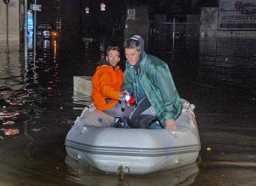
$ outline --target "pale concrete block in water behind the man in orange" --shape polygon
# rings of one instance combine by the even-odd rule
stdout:
[[[90,96],[92,94],[92,76],[74,76],[74,90]]]

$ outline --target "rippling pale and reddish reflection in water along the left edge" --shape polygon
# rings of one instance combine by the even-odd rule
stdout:
[[[20,91],[23,87],[22,68],[19,61],[19,52],[9,53],[9,60],[6,60],[6,53],[0,48],[0,141],[5,140],[8,135],[19,133],[18,121],[21,117],[21,106],[23,105],[24,92]],[[0,150],[1,151],[1,150]]]

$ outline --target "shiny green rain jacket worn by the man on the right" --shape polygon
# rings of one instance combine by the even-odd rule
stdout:
[[[168,65],[158,57],[147,55],[144,52],[140,67],[139,82],[141,82],[148,101],[160,122],[166,127],[166,119],[177,119],[182,110],[180,96],[177,93]],[[122,91],[127,90],[135,95],[136,81],[134,76],[134,67],[126,61]]]

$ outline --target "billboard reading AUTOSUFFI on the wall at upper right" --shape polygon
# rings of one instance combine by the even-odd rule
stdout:
[[[256,0],[220,0],[219,30],[256,30]]]

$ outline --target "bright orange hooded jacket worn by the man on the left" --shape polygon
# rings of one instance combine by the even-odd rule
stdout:
[[[92,78],[92,100],[99,110],[108,110],[119,100],[119,93],[123,85],[123,71],[117,66],[107,64],[96,69]],[[105,99],[111,100],[106,104]]]

